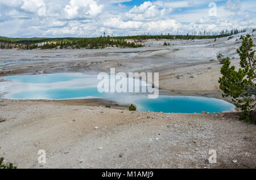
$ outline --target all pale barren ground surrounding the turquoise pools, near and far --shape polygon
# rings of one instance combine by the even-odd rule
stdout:
[[[228,55],[238,67],[236,38],[171,46],[149,40],[137,49],[0,50],[0,76],[97,74],[115,67],[159,72],[164,94],[221,98],[216,55]],[[237,119],[235,112],[129,112],[103,100],[0,100],[0,156],[18,168],[256,168],[256,126]],[[47,152],[44,165],[37,161],[39,149]],[[216,164],[208,162],[210,149]]]

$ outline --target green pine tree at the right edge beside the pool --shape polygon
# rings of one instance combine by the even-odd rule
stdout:
[[[256,118],[253,115],[256,105],[255,50],[252,49],[254,45],[250,35],[242,37],[242,40],[242,45],[237,49],[241,68],[236,71],[234,66],[229,67],[230,59],[226,58],[221,67],[222,77],[218,82],[220,89],[224,92],[222,96],[231,96],[234,105],[242,110],[240,119],[256,123]]]

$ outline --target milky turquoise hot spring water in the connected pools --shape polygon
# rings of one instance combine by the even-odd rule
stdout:
[[[9,99],[79,99],[104,98],[120,104],[135,104],[138,110],[164,113],[201,113],[234,110],[234,105],[224,100],[192,96],[159,96],[148,99],[146,95],[131,93],[100,93],[96,75],[82,73],[6,76],[1,78],[0,93]]]

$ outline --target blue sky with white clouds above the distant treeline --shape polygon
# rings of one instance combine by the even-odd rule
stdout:
[[[96,37],[256,27],[255,0],[0,0],[0,36]]]

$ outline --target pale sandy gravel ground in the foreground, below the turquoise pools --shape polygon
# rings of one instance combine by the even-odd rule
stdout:
[[[256,126],[237,121],[236,113],[4,100],[1,116],[8,121],[0,123],[0,156],[18,168],[256,168]],[[38,164],[39,149],[46,164]],[[210,149],[216,164],[208,162]]]

